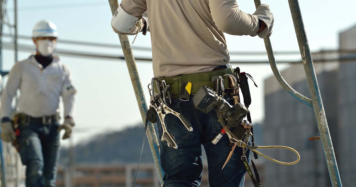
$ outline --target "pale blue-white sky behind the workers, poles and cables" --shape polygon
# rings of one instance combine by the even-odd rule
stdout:
[[[338,47],[338,33],[356,24],[354,7],[351,0],[300,0],[302,16],[312,51],[320,49],[336,49]],[[9,0],[11,10],[13,2]],[[84,4],[85,3],[85,4]],[[247,13],[255,11],[252,0],[237,0],[241,10]],[[274,51],[298,51],[292,17],[288,1],[268,0],[262,1],[270,5],[275,16],[273,34],[271,37]],[[70,5],[71,4],[71,5]],[[58,28],[59,39],[120,44],[118,36],[112,31],[110,20],[111,11],[107,0],[71,0],[45,1],[31,0],[19,1],[18,32],[19,35],[31,35],[34,24],[47,19],[53,21]],[[10,18],[13,15],[10,11]],[[8,29],[5,28],[7,33]],[[250,36],[225,35],[230,52],[234,51],[265,51],[263,40]],[[177,37],[177,36],[172,36]],[[133,36],[130,36],[130,41]],[[7,40],[5,40],[7,41]],[[26,40],[19,40],[20,44],[31,44]],[[139,34],[133,46],[151,47],[150,36]],[[91,48],[74,45],[57,46],[58,49],[95,52],[104,54],[122,54],[121,48]],[[19,52],[19,60],[30,55],[28,52]],[[134,50],[137,57],[151,57],[149,52]],[[3,50],[3,69],[10,70],[14,64],[14,54],[10,50]],[[278,59],[298,59],[298,56],[276,56]],[[73,75],[74,86],[77,88],[75,103],[76,122],[74,136],[75,142],[86,141],[93,135],[103,132],[120,130],[126,126],[142,123],[137,102],[133,93],[126,63],[122,60],[104,60],[75,57],[61,57]],[[266,56],[232,56],[231,60],[267,60]],[[250,106],[254,121],[262,122],[264,119],[263,80],[272,75],[269,64],[231,64],[239,66],[242,71],[250,73],[258,88],[250,87],[252,92],[252,105]],[[279,64],[281,69],[286,64]],[[142,86],[148,99],[147,84],[153,77],[152,63],[137,61]],[[304,73],[304,72],[301,72]],[[298,91],[298,90],[297,90]],[[290,99],[294,99],[290,97]],[[307,106],[305,106],[307,107]],[[67,144],[66,141],[62,142]]]

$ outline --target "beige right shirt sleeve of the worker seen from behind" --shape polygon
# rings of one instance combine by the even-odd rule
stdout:
[[[209,7],[220,31],[239,36],[258,32],[258,17],[240,10],[235,0],[209,0]]]

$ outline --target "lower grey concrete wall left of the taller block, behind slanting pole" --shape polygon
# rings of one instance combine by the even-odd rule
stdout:
[[[315,64],[334,145],[337,144],[337,67],[335,63]],[[282,75],[295,90],[310,98],[302,64],[292,65]],[[319,136],[314,110],[289,95],[274,77],[265,80],[265,93],[265,144],[293,147],[301,157],[299,163],[292,166],[266,161],[265,186],[331,187],[321,141],[309,141],[309,137]],[[284,162],[296,159],[287,150],[263,152]]]

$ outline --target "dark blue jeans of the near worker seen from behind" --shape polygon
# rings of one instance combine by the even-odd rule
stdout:
[[[232,146],[229,145],[230,141],[226,134],[218,144],[211,143],[222,128],[216,111],[205,114],[195,109],[192,97],[184,102],[173,99],[170,108],[183,114],[190,121],[193,132],[188,131],[177,117],[172,114],[166,115],[167,130],[174,136],[178,145],[178,149],[173,149],[168,147],[166,142],[160,141],[162,127],[160,121],[157,122],[160,161],[164,171],[163,187],[200,185],[203,171],[201,145],[204,146],[207,156],[209,185],[211,187],[243,187],[246,170],[241,161],[242,148],[236,147],[230,161],[221,170]],[[250,161],[249,150],[246,156]]]

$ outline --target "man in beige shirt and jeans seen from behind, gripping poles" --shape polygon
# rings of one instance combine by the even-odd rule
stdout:
[[[148,17],[142,16],[145,12]],[[241,161],[241,147],[236,148],[222,170],[232,146],[226,135],[218,144],[211,143],[222,126],[215,111],[205,114],[194,108],[192,95],[201,85],[212,84],[212,76],[232,73],[223,32],[264,38],[271,35],[273,22],[268,5],[259,6],[251,15],[241,11],[235,0],[121,1],[111,20],[114,32],[135,35],[142,31],[145,35],[150,31],[153,73],[170,85],[174,99],[169,107],[183,114],[194,129],[190,132],[176,116],[166,116],[167,131],[174,136],[178,149],[159,141],[164,187],[200,185],[201,145],[207,156],[210,186],[244,186],[246,170]],[[191,82],[192,89],[190,98],[182,99],[184,81]],[[155,93],[162,93],[154,89]],[[161,122],[157,121],[162,136]],[[249,151],[246,156],[250,159]]]

